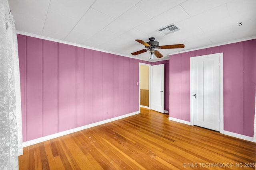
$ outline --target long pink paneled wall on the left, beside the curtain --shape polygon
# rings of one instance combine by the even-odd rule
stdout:
[[[139,111],[139,62],[18,36],[23,141]]]

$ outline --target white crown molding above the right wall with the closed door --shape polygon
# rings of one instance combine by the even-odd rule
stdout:
[[[207,46],[204,46],[204,47],[188,49],[188,50],[184,50],[184,51],[178,51],[178,52],[174,52],[174,53],[169,53],[169,55],[186,53],[186,52],[196,51],[196,50],[201,50],[201,49],[207,49],[207,48],[211,48],[211,47],[217,47],[217,46],[220,46],[220,45],[227,45],[227,44],[232,44],[232,43],[238,43],[238,42],[241,42],[241,41],[248,41],[248,40],[252,40],[252,39],[256,39],[256,36],[242,38],[242,39],[236,39],[236,40],[233,40],[233,41],[226,41],[224,43],[217,43],[217,44],[213,44],[213,45],[207,45]]]

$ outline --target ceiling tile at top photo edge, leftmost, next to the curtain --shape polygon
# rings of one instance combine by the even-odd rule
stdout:
[[[50,0],[8,0],[12,14],[44,20]]]

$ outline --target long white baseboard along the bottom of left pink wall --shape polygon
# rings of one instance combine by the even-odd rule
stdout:
[[[81,127],[76,127],[74,129],[70,129],[70,130],[67,130],[67,131],[62,131],[62,132],[55,133],[55,134],[52,134],[52,135],[48,135],[48,136],[45,136],[45,137],[40,137],[40,138],[37,138],[37,139],[33,139],[31,141],[23,142],[22,146],[23,147],[28,147],[30,145],[34,145],[34,144],[37,144],[37,143],[40,143],[40,142],[44,142],[44,141],[48,141],[50,139],[54,139],[56,137],[61,137],[63,135],[68,135],[70,133],[74,133],[74,132],[77,132],[77,131],[82,131],[84,129],[88,129],[88,128],[91,128],[91,127],[94,127],[94,126],[102,125],[104,123],[108,123],[108,122],[111,122],[111,121],[115,121],[115,120],[118,120],[118,119],[129,117],[129,116],[132,116],[132,115],[136,115],[138,113],[140,113],[140,111],[135,111],[133,113],[128,113],[126,115],[121,115],[121,116],[118,116],[118,117],[113,117],[111,119],[106,119],[106,120],[103,120],[103,121],[98,121],[98,122],[95,122],[95,123],[92,123],[92,124],[89,124],[89,125],[84,125],[84,126],[81,126]]]

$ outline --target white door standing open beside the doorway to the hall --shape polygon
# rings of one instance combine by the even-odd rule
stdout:
[[[164,64],[150,66],[150,109],[164,113]]]

